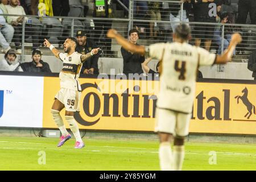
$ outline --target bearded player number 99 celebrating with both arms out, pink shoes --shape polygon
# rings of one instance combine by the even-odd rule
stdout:
[[[59,127],[62,136],[58,147],[62,146],[68,139],[71,138],[71,134],[65,129],[63,119],[60,116],[60,111],[65,107],[65,119],[69,124],[69,127],[76,138],[75,148],[84,147],[81,135],[79,133],[79,127],[74,119],[74,112],[80,111],[79,100],[81,97],[81,86],[79,84],[79,75],[82,67],[82,63],[89,59],[91,56],[98,53],[98,49],[92,49],[91,52],[86,55],[81,55],[75,52],[77,46],[77,40],[75,38],[67,38],[64,42],[64,52],[60,53],[47,39],[44,39],[44,46],[51,49],[53,55],[63,61],[63,68],[60,72],[60,87],[61,89],[55,96],[51,113],[53,119]]]

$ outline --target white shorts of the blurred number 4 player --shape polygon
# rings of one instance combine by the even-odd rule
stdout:
[[[191,114],[156,108],[155,132],[169,133],[174,137],[188,135]]]

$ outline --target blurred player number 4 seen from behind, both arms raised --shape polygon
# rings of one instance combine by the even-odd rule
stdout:
[[[176,27],[174,43],[157,43],[136,46],[129,43],[117,31],[109,30],[127,51],[141,53],[162,60],[160,65],[160,90],[156,109],[155,131],[159,133],[159,160],[162,170],[181,170],[184,160],[184,138],[188,135],[193,99],[195,97],[197,68],[200,65],[225,64],[231,61],[239,34],[233,34],[223,55],[209,53],[203,48],[191,46],[191,29],[186,24]],[[171,142],[174,137],[174,149]]]

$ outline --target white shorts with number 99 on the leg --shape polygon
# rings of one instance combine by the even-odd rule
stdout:
[[[81,92],[77,90],[71,90],[66,88],[61,88],[56,94],[55,98],[65,105],[65,110],[67,111],[80,111],[79,101],[81,98]]]

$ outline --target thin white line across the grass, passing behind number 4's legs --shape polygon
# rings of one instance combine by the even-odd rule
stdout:
[[[128,148],[128,147],[127,147]],[[16,147],[16,148],[11,148],[11,147],[0,147],[0,149],[11,149],[11,150],[42,150],[40,148],[20,148],[20,147]],[[90,152],[101,152],[101,150],[77,150],[77,149],[63,149],[63,148],[44,148],[43,150],[49,150],[49,151],[90,151]],[[158,153],[158,151],[114,151],[114,150],[102,150],[102,152],[124,152],[124,153]],[[223,155],[242,155],[242,156],[256,156],[256,154],[248,154],[248,153],[237,153],[237,152],[217,152],[217,154],[223,154]],[[185,154],[195,154],[195,155],[208,155],[208,153],[204,153],[204,152],[185,152]]]

